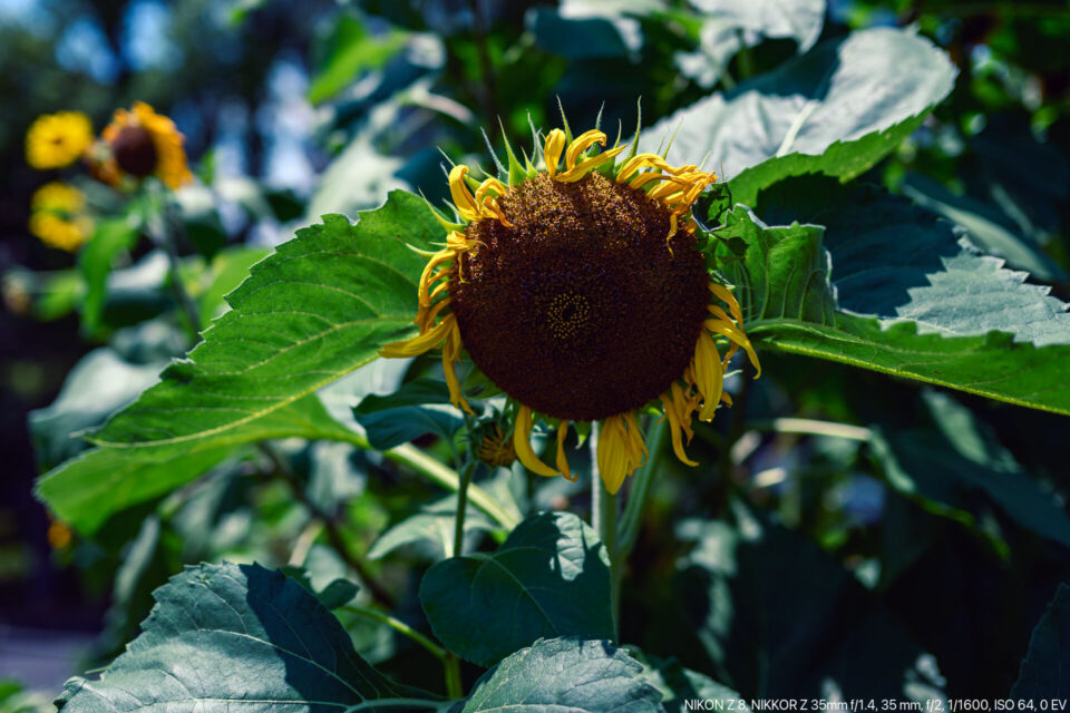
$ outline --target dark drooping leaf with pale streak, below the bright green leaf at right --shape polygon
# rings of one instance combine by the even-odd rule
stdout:
[[[922,498],[927,509],[974,524],[970,509],[982,492],[1021,527],[1070,547],[1070,518],[1004,450],[996,434],[947,394],[926,393],[937,429],[882,433],[872,441],[888,482]]]

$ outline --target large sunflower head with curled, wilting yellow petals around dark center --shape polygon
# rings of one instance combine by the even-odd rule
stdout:
[[[568,428],[599,422],[599,471],[615,494],[648,457],[639,414],[660,410],[674,453],[697,466],[684,439],[696,414],[731,406],[729,360],[742,349],[760,367],[739,304],[696,245],[691,206],[717,176],[638,153],[638,134],[605,145],[597,129],[573,138],[565,121],[536,136],[541,167],[508,144],[499,177],[454,166],[458,222],[438,216],[450,232],[420,279],[419,334],[380,353],[440,348],[451,401],[471,412],[456,372],[466,350],[508,397],[516,455],[542,476],[574,479]],[[536,414],[556,428],[554,467],[532,449]]]

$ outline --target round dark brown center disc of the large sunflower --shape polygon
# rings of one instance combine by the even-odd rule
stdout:
[[[595,420],[643,406],[679,379],[707,316],[694,240],[667,244],[669,212],[599,173],[539,174],[499,198],[513,227],[481,219],[450,281],[473,361],[551,417]],[[671,250],[670,250],[671,247]]]

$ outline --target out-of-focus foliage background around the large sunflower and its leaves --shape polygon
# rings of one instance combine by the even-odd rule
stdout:
[[[427,533],[449,518],[432,507],[440,492],[388,461],[285,441],[120,514],[94,541],[51,521],[33,478],[85,448],[70,434],[137,395],[192,334],[164,258],[128,223],[99,222],[78,255],[29,235],[30,196],[55,177],[23,158],[40,114],[81,110],[99,129],[144,100],[174,118],[200,179],[178,194],[183,281],[206,323],[250,264],[319,215],[353,216],[392,187],[444,198],[442,153],[486,165],[484,130],[495,145],[504,131],[531,146],[560,101],[574,126],[601,111],[611,136],[621,123],[628,137],[640,97],[650,125],[819,40],[915,27],[952,58],[955,88],[865,179],[1070,297],[1066,2],[792,3],[801,22],[770,21],[772,4],[0,0],[0,623],[90,633],[79,665],[93,665],[121,651],[152,589],[183,564],[230,558],[304,563],[313,588],[357,569],[361,596],[373,578],[420,625],[418,573],[444,551]],[[66,172],[100,215],[132,209],[84,173]],[[626,575],[622,639],[748,696],[828,693],[811,657],[837,662],[836,685],[873,695],[1005,695],[1070,582],[1066,418],[825,362],[762,361],[768,375],[730,382],[737,408],[697,430],[692,458],[728,477],[664,461]],[[342,411],[422,365],[369,367],[339,387]],[[420,445],[446,452],[431,437]],[[560,479],[533,485],[514,470],[492,485],[521,511],[590,507]],[[379,540],[414,514],[424,519]],[[322,521],[338,524],[342,550],[379,540],[370,560],[324,546]],[[471,522],[474,539],[493,529]],[[428,667],[407,639],[340,615],[387,673]],[[407,682],[440,685],[436,674]],[[25,700],[12,686],[0,710]]]

